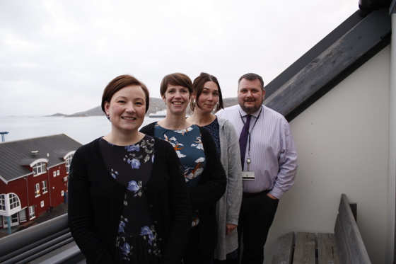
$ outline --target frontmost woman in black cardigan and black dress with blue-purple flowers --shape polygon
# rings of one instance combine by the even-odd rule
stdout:
[[[139,132],[148,89],[110,81],[102,109],[111,132],[80,147],[69,173],[69,226],[87,263],[182,263],[191,205],[170,144]]]

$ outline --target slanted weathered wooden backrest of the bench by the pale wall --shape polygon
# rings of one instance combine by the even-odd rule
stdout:
[[[358,225],[355,222],[354,214],[349,207],[347,195],[342,195],[341,202],[339,203],[339,222],[344,232],[344,238],[352,264],[366,264],[371,263],[368,258],[366,247],[364,246],[363,239],[359,232]]]

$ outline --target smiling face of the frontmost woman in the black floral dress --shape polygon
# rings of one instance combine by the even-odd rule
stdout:
[[[105,102],[112,130],[130,132],[138,130],[146,114],[146,95],[139,85],[125,86]]]

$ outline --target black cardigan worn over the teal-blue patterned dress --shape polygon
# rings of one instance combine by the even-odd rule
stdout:
[[[154,136],[156,122],[142,127],[140,132]],[[193,210],[199,210],[199,250],[213,251],[217,244],[216,202],[226,191],[226,173],[216,151],[211,134],[199,127],[206,156],[206,165],[198,185],[188,188]]]

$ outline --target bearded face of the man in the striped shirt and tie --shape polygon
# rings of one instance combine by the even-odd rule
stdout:
[[[260,81],[255,79],[249,81],[242,79],[238,87],[238,103],[240,108],[248,114],[255,113],[260,109],[264,101],[265,91],[262,89]]]

